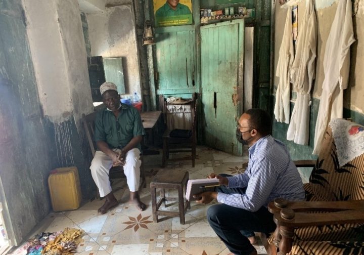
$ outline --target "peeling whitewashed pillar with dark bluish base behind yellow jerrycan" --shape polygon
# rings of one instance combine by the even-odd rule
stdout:
[[[39,99],[51,123],[53,162],[55,167],[77,166],[83,196],[90,197],[94,184],[81,115],[94,107],[78,2],[23,0],[23,5]]]

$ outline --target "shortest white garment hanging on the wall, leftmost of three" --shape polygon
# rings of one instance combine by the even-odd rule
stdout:
[[[276,92],[274,114],[279,122],[289,123],[291,94],[289,70],[292,66],[293,58],[292,8],[289,6],[287,8],[286,24],[276,71],[276,76],[279,77],[279,84]]]

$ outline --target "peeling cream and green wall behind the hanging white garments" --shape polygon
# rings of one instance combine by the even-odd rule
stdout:
[[[273,134],[276,138],[284,141],[294,159],[312,158],[313,149],[313,133],[317,111],[320,104],[320,96],[322,93],[322,83],[324,81],[324,53],[327,43],[327,38],[330,33],[331,24],[334,20],[337,1],[344,0],[315,0],[315,9],[318,26],[317,36],[317,57],[316,57],[316,79],[313,87],[313,100],[311,105],[311,120],[310,120],[310,141],[309,146],[301,146],[286,140],[288,125],[284,123],[274,123]],[[344,117],[352,117],[354,121],[364,124],[364,1],[352,1],[357,13],[353,16],[353,27],[355,43],[351,46],[350,60],[350,77],[348,89],[344,91]],[[305,1],[298,4],[298,30],[301,28],[303,14],[305,12]],[[283,37],[283,27],[285,25],[287,10],[280,9],[279,1],[276,1],[275,11],[275,65],[276,72],[277,62],[279,58],[279,49]],[[274,87],[277,88],[279,83],[278,77],[274,78]],[[274,92],[275,94],[275,92]],[[294,96],[294,95],[293,95]],[[274,99],[275,100],[275,99]],[[291,104],[291,111],[293,104]]]

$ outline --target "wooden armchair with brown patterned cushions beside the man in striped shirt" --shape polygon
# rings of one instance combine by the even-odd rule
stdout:
[[[314,167],[306,201],[268,205],[277,224],[273,254],[364,254],[364,154],[340,166],[329,126],[316,162],[296,165]]]

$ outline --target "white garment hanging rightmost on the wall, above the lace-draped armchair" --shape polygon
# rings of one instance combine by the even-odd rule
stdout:
[[[342,118],[343,90],[347,88],[349,78],[350,45],[354,41],[351,1],[340,0],[325,49],[325,79],[316,120],[313,154],[320,153],[329,121]]]

